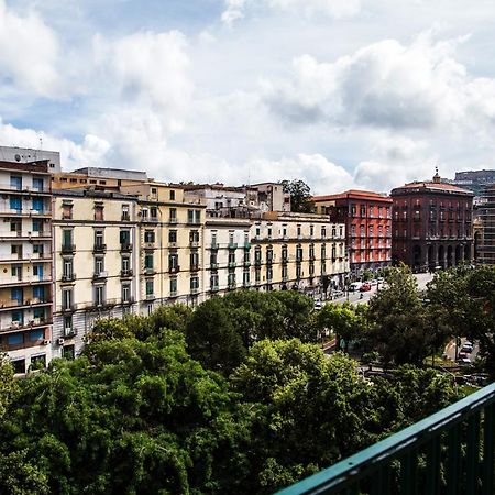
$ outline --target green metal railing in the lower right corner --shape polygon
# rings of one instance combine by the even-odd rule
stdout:
[[[493,495],[495,384],[278,495]]]

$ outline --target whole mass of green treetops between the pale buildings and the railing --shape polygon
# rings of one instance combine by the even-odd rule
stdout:
[[[0,493],[273,493],[455,398],[414,366],[364,381],[314,343],[345,317],[316,312],[233,293],[99,321],[82,356],[24,380],[1,362]]]

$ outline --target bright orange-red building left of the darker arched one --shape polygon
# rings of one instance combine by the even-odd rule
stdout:
[[[378,193],[348,190],[315,196],[317,213],[345,223],[351,273],[377,270],[392,262],[392,199]]]

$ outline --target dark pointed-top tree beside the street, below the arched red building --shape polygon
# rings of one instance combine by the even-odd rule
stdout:
[[[387,286],[371,300],[369,339],[385,364],[422,365],[444,336],[432,328],[417,288],[416,278],[406,265],[392,268]]]

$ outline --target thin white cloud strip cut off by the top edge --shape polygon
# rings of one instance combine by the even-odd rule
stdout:
[[[246,10],[267,8],[280,12],[302,13],[311,16],[323,14],[333,19],[355,15],[361,10],[361,0],[224,0],[222,22],[232,25],[244,18]]]

